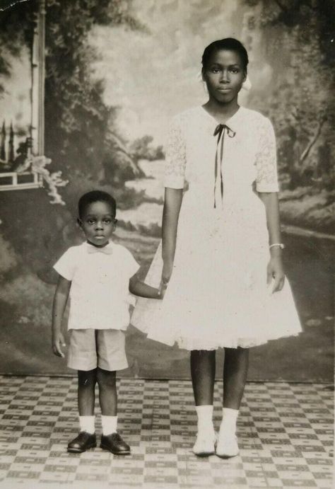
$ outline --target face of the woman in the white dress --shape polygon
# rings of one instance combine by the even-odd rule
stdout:
[[[219,103],[237,100],[246,76],[240,55],[232,50],[213,52],[203,71],[209,98]]]

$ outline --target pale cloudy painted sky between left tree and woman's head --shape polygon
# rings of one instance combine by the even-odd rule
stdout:
[[[105,102],[121,108],[117,125],[124,137],[151,134],[163,143],[170,117],[206,101],[199,76],[204,47],[240,37],[240,1],[134,0],[133,6],[150,32],[95,28],[93,67],[105,79]]]

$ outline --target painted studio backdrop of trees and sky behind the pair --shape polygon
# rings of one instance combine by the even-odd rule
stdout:
[[[57,280],[52,265],[81,242],[76,201],[83,192],[112,192],[118,203],[116,239],[134,253],[145,275],[160,237],[168,122],[206,101],[201,54],[212,40],[233,36],[245,43],[250,59],[252,90],[242,93],[241,102],[271,117],[276,130],[285,265],[304,328],[298,338],[255,348],[249,379],[330,381],[332,2],[5,4],[0,11],[0,372],[70,373],[50,346]],[[127,353],[131,367],[123,375],[188,376],[187,352],[148,341],[133,327],[127,331]]]

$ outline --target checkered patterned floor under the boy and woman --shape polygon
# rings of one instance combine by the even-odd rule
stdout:
[[[76,379],[0,376],[0,486],[333,487],[333,392],[324,384],[247,384],[240,456],[228,460],[192,454],[196,417],[189,381],[118,384],[119,432],[131,444],[129,457],[100,448],[66,452],[78,430]],[[218,427],[221,383],[214,418]]]

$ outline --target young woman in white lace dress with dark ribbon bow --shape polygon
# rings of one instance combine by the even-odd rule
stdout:
[[[237,100],[247,64],[238,40],[212,42],[202,57],[208,102],[172,120],[162,249],[147,277],[164,298],[140,299],[131,320],[148,338],[190,350],[199,456],[238,453],[248,348],[300,332],[282,265],[274,130]],[[225,362],[216,444],[218,347],[225,348]]]

